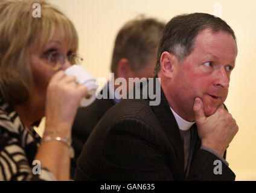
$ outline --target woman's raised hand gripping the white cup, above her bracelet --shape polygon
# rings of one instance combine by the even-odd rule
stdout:
[[[45,131],[55,130],[70,138],[80,100],[86,93],[87,88],[78,84],[74,76],[56,72],[46,91]]]

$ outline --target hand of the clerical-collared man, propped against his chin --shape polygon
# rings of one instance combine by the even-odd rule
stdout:
[[[206,117],[203,102],[198,97],[194,100],[193,110],[201,146],[211,148],[223,156],[238,131],[235,119],[224,109],[223,104],[213,115]]]

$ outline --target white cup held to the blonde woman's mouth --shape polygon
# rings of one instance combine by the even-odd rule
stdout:
[[[95,99],[95,92],[97,89],[96,80],[89,74],[82,66],[72,65],[65,70],[66,75],[73,75],[76,77],[76,81],[87,87],[87,95],[80,101],[81,107],[86,107],[92,104]]]

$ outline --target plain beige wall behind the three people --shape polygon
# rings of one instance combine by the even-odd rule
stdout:
[[[229,112],[240,128],[230,147],[227,160],[237,180],[256,180],[256,1],[171,1],[171,0],[51,0],[74,22],[80,37],[84,67],[94,77],[108,78],[112,48],[117,31],[138,14],[169,21],[171,17],[192,12],[214,14],[219,2],[222,19],[235,31],[237,62],[231,75],[226,101]]]

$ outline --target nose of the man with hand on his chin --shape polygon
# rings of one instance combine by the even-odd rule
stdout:
[[[229,87],[229,75],[225,68],[219,68],[214,74],[214,85],[221,86],[224,88]]]

